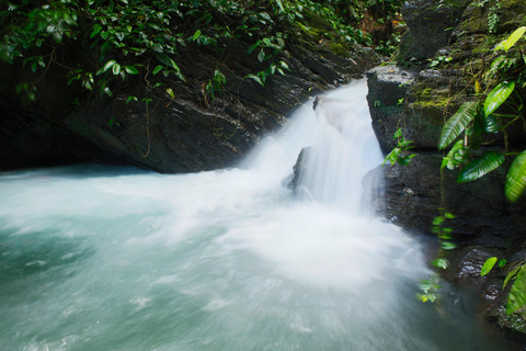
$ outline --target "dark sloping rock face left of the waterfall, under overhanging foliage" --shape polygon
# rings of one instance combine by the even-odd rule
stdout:
[[[4,65],[0,171],[81,160],[159,172],[231,167],[309,94],[343,84],[378,61],[376,54],[359,46],[347,57],[324,46],[293,46],[279,57],[290,71],[276,72],[262,87],[243,79],[265,69],[247,48],[242,39],[232,41],[224,54],[227,59],[218,61],[211,49],[187,45],[176,59],[186,82],[156,77],[163,86],[152,88],[130,78],[126,86],[112,83],[113,98],[101,98],[75,82],[68,86],[61,67],[53,66],[41,77]],[[75,47],[57,57],[69,67],[96,61],[96,55]],[[216,69],[227,83],[213,99],[205,87]],[[14,93],[24,81],[38,81],[34,102]],[[129,95],[137,100],[127,102]],[[151,99],[148,105],[145,99]]]

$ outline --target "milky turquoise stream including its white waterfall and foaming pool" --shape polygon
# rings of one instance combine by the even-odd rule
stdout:
[[[366,93],[308,102],[239,169],[1,174],[0,350],[512,350],[461,293],[414,297],[423,245],[366,211]]]

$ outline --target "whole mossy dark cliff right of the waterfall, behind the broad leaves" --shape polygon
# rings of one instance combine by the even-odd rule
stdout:
[[[478,285],[483,316],[496,321],[506,336],[524,339],[522,317],[504,313],[506,272],[495,270],[481,278],[480,270],[492,256],[510,263],[526,258],[526,201],[511,203],[504,196],[510,165],[471,183],[457,183],[458,169],[441,172],[445,154],[437,145],[445,121],[464,102],[477,99],[476,82],[482,81],[496,58],[493,47],[526,24],[526,8],[517,0],[415,0],[405,4],[402,14],[409,31],[401,42],[398,66],[370,71],[367,99],[384,152],[397,146],[393,134],[401,128],[404,138],[413,141],[410,151],[418,156],[407,166],[371,171],[384,180],[376,193],[377,211],[407,229],[430,235],[439,207],[455,214],[447,226],[458,248],[448,254],[450,264],[442,275]],[[524,53],[525,47],[523,41],[515,49]],[[524,91],[517,92],[524,98]],[[516,123],[507,136],[499,133],[485,138],[481,152],[504,151],[505,147],[523,150],[525,145],[526,133]]]

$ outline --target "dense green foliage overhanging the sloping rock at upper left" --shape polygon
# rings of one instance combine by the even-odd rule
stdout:
[[[159,86],[155,76],[184,81],[175,54],[194,43],[207,46],[220,57],[230,41],[251,43],[248,54],[265,69],[245,78],[261,84],[266,77],[285,73],[287,65],[278,54],[295,42],[330,43],[339,54],[350,45],[373,45],[370,34],[358,29],[366,9],[379,21],[396,15],[401,0],[48,0],[5,1],[0,5],[0,59],[21,63],[36,75],[52,65],[64,67],[69,83],[112,95],[111,81],[138,76],[147,86]],[[60,58],[60,50],[81,44],[98,53],[98,63],[76,65]],[[376,43],[380,44],[380,43]],[[385,44],[385,43],[384,43]],[[380,47],[386,50],[385,45]],[[20,94],[35,99],[36,77],[16,87]],[[206,84],[214,99],[226,83],[215,70]],[[167,92],[173,95],[170,89]],[[129,97],[136,100],[136,97]],[[148,99],[145,98],[148,103]]]

